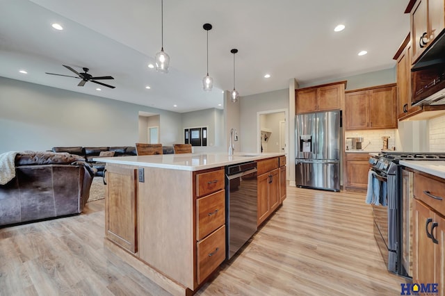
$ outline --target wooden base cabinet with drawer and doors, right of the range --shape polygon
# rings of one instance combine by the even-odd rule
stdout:
[[[414,172],[413,274],[414,283],[438,283],[444,295],[445,181]]]

